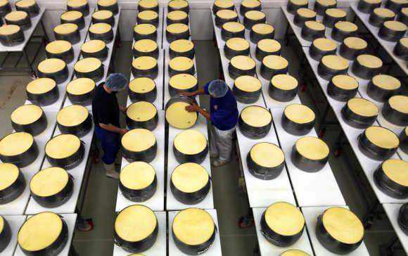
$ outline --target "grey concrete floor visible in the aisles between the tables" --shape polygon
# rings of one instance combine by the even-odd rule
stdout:
[[[217,49],[212,41],[195,41],[198,81],[200,86],[205,82],[219,77]],[[122,72],[129,77],[131,64],[131,45],[123,42],[115,56],[115,72]],[[298,75],[299,57],[292,48],[284,48],[283,56],[291,63],[291,74]],[[1,56],[0,56],[1,57]],[[14,57],[17,58],[17,57]],[[39,59],[44,58],[44,53],[39,53]],[[1,59],[1,58],[0,58]],[[22,63],[23,65],[24,63]],[[0,118],[4,122],[0,126],[0,136],[11,132],[9,122],[10,114],[14,108],[22,105],[25,101],[25,84],[30,81],[26,74],[1,74],[0,79]],[[306,79],[307,82],[308,79]],[[307,91],[300,91],[299,95],[303,103],[312,107],[316,113],[321,114],[323,99],[308,83],[307,91],[313,91],[314,99]],[[118,98],[125,104],[126,93],[121,92]],[[206,96],[200,99],[205,107],[208,107]],[[331,115],[329,114],[329,118]],[[331,117],[333,118],[333,117]],[[122,122],[124,117],[122,116]],[[339,132],[338,126],[327,127],[324,140],[333,148],[334,141]],[[329,163],[335,174],[343,196],[350,208],[362,217],[366,212],[365,203],[367,196],[357,186],[352,172],[358,172],[357,161],[350,162],[352,156],[347,147],[343,148],[343,155],[336,158],[331,155]],[[348,160],[348,161],[346,161]],[[253,255],[253,248],[257,244],[255,228],[239,229],[238,217],[248,213],[248,199],[242,189],[238,187],[238,162],[236,157],[231,162],[220,168],[212,168],[212,180],[214,189],[215,207],[219,220],[219,232],[222,240],[222,254],[226,256],[249,256]],[[112,255],[113,251],[113,222],[115,219],[115,201],[117,194],[117,181],[107,179],[103,174],[101,164],[91,167],[91,176],[87,187],[82,215],[94,220],[94,230],[89,232],[75,233],[74,245],[79,255]],[[370,255],[381,255],[378,245],[393,238],[394,233],[390,228],[388,219],[379,215],[370,231],[366,232],[365,243],[369,248]]]

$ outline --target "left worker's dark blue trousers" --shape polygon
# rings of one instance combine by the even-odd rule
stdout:
[[[103,149],[102,161],[106,165],[113,164],[116,159],[117,152],[120,149],[120,136],[116,132],[109,132],[106,129],[95,125],[95,133],[99,141],[101,141]]]

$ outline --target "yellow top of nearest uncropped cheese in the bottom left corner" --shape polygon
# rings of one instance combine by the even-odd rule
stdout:
[[[62,219],[53,212],[41,212],[27,219],[18,231],[18,245],[28,251],[48,248],[63,231]]]

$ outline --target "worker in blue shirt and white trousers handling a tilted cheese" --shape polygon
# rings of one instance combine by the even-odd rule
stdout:
[[[211,121],[210,157],[217,158],[212,165],[219,167],[231,160],[232,139],[236,122],[238,122],[236,99],[231,89],[222,80],[210,81],[197,91],[181,93],[183,96],[200,94],[210,95],[210,113],[196,103],[186,106],[186,110],[198,112]]]

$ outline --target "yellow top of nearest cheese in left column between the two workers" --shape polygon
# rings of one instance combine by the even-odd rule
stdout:
[[[125,241],[143,241],[151,236],[158,220],[155,213],[144,205],[131,205],[123,209],[115,219],[115,233]]]

